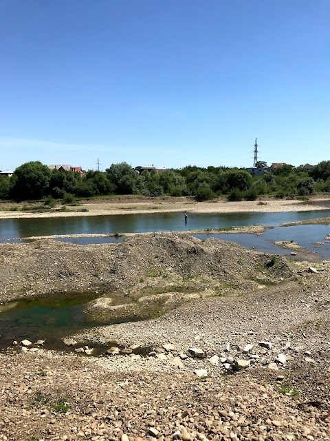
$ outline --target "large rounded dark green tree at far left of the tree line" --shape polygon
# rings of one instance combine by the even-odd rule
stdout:
[[[39,199],[48,192],[50,169],[40,161],[17,167],[10,179],[10,196],[17,201]]]

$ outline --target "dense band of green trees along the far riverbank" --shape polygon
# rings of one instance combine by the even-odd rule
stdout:
[[[254,201],[259,196],[278,198],[308,196],[330,192],[330,161],[322,161],[310,170],[283,165],[263,176],[229,167],[197,167],[139,172],[127,163],[111,164],[105,172],[89,170],[86,174],[50,170],[39,161],[20,165],[12,176],[0,176],[2,200],[32,201],[72,195],[78,198],[111,194],[142,196],[195,196],[206,201],[227,196],[229,201]],[[137,170],[136,170],[137,169]]]

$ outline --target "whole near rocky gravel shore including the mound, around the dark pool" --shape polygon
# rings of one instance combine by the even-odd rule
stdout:
[[[155,314],[0,353],[0,440],[330,440],[329,262],[181,233],[0,251],[2,306],[75,289]]]

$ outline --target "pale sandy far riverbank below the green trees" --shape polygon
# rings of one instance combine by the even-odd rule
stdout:
[[[324,198],[314,201],[325,201]],[[18,207],[13,211],[13,207]],[[93,201],[82,201],[79,207],[69,207],[70,211],[57,212],[30,212],[20,211],[20,204],[1,203],[0,219],[9,218],[50,218],[70,216],[109,216],[114,214],[142,214],[142,213],[165,213],[186,212],[196,213],[239,213],[239,212],[299,212],[325,209],[322,205],[309,205],[301,201],[283,201],[267,199],[265,201],[241,201],[227,202],[218,198],[210,202],[196,202],[192,198],[109,198]],[[88,211],[82,211],[82,210]]]

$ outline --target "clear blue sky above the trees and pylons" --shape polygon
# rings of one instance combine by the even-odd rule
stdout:
[[[1,0],[0,170],[318,163],[329,0]]]

